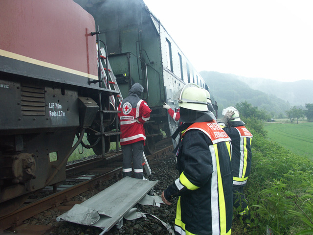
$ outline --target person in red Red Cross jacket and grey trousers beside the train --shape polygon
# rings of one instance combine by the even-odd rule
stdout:
[[[135,83],[128,96],[118,107],[118,118],[121,126],[120,144],[123,150],[123,177],[132,174],[132,158],[134,177],[143,179],[142,157],[146,140],[143,123],[149,120],[151,109],[146,101],[140,99],[143,87]]]

